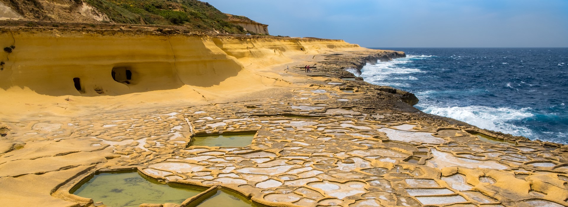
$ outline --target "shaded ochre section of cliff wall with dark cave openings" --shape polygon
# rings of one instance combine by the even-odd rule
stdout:
[[[6,33],[0,39],[12,39]],[[185,85],[211,87],[243,69],[234,57],[198,37],[98,36],[59,41],[15,37],[2,57],[0,88],[29,88],[49,96],[124,95]],[[0,45],[2,46],[2,45]]]

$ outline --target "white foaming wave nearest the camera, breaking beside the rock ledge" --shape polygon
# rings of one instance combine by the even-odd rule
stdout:
[[[528,112],[531,108],[492,108],[479,105],[470,105],[467,107],[437,107],[421,106],[421,104],[418,104],[417,107],[423,108],[422,111],[426,113],[460,120],[483,129],[500,131],[515,136],[530,137],[534,134],[531,129],[509,123],[534,116],[532,113]]]

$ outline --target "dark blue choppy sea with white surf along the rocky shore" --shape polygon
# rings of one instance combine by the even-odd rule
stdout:
[[[361,77],[413,92],[421,111],[568,143],[568,48],[380,49],[407,57],[366,65]]]

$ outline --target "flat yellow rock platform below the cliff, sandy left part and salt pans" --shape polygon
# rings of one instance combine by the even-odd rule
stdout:
[[[69,189],[95,171],[137,168],[158,180],[221,185],[270,206],[568,205],[565,146],[486,142],[475,133],[503,136],[421,113],[398,92],[339,78],[340,67],[369,56],[377,61],[383,52],[294,57],[295,66],[316,63],[315,74],[328,76],[258,69],[289,84],[231,102],[5,122],[0,202],[94,206]],[[256,135],[245,147],[191,145],[195,134],[229,132]]]

